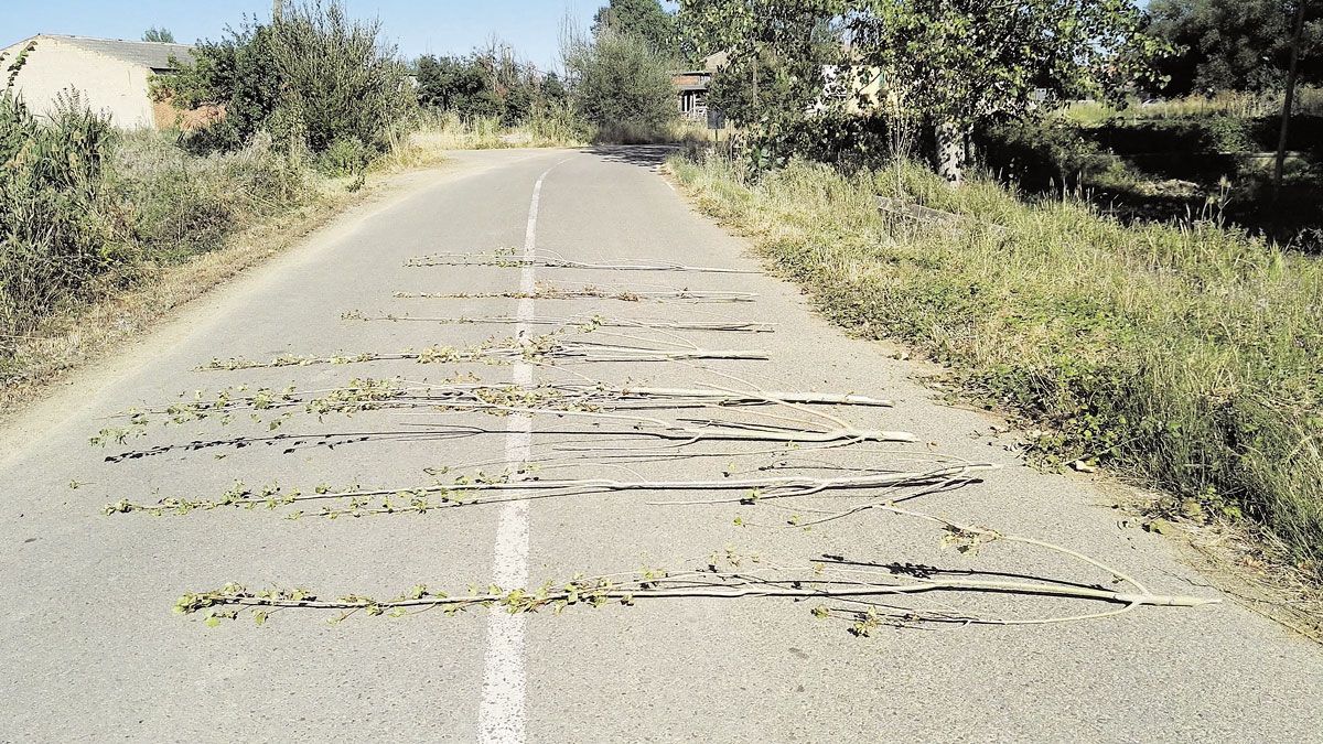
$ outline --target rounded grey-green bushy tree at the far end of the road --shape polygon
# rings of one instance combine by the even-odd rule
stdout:
[[[564,54],[576,110],[606,132],[656,136],[679,115],[669,62],[640,37],[607,29]]]

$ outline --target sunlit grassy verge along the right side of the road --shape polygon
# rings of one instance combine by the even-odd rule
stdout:
[[[1208,224],[1126,228],[990,183],[951,191],[921,168],[671,169],[833,322],[902,339],[1033,420],[1037,455],[1158,485],[1184,518],[1248,520],[1319,577],[1323,263]],[[889,217],[876,195],[966,220]]]

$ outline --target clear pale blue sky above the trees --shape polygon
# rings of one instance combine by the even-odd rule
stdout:
[[[492,34],[554,69],[561,20],[586,26],[606,0],[345,0],[349,15],[381,19],[406,57],[462,54]],[[245,15],[269,17],[271,0],[0,0],[0,48],[38,33],[142,38],[164,26],[181,42],[217,38]]]

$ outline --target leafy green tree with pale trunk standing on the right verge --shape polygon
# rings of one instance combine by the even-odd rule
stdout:
[[[953,184],[975,124],[1035,115],[1040,87],[1115,94],[1162,49],[1132,0],[681,0],[700,48],[733,60],[810,53],[804,24],[791,23],[803,15],[835,21],[835,68],[852,70],[855,87],[880,73],[886,94],[929,122]]]

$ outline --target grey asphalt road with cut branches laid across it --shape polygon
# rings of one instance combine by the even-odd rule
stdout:
[[[819,467],[816,475],[922,470],[954,458],[999,463],[1002,470],[959,488],[905,491],[913,496],[905,506],[1060,544],[1130,573],[1155,593],[1218,596],[1166,539],[1121,524],[1101,491],[1081,478],[1024,467],[1007,446],[1012,440],[995,436],[990,420],[937,402],[913,380],[921,367],[845,338],[814,316],[789,283],[757,273],[511,266],[527,254],[757,269],[738,240],[691,212],[656,165],[658,154],[648,150],[459,155],[450,169],[415,179],[404,196],[360,209],[218,289],[20,420],[0,440],[7,485],[0,499],[0,740],[1323,739],[1323,653],[1234,602],[1138,608],[1046,625],[884,625],[869,637],[851,634],[849,620],[811,612],[860,605],[787,598],[658,598],[513,617],[483,609],[401,618],[360,612],[337,624],[328,622],[333,612],[278,610],[261,626],[241,613],[214,628],[205,613],[171,612],[181,594],[230,581],[253,589],[306,586],[319,597],[394,597],[417,584],[463,593],[470,584],[536,586],[576,573],[679,572],[706,565],[714,553],[717,563],[736,556],[753,571],[837,556],[856,565],[1113,588],[1106,573],[1024,544],[994,543],[962,555],[942,544],[933,524],[880,511],[810,530],[789,524],[886,494],[656,506],[729,494],[628,491],[504,499],[425,515],[323,519],[310,510],[296,520],[282,518],[288,508],[185,516],[102,511],[120,499],[218,498],[235,481],[304,491],[318,483],[404,488],[471,473],[479,463],[486,473],[503,473],[529,458],[545,462],[538,478],[634,481],[775,475],[787,466]],[[493,250],[505,256],[497,265],[406,266],[426,254]],[[542,283],[740,291],[757,299],[397,297],[513,295]],[[355,312],[523,324],[363,320]],[[216,357],[467,348],[554,330],[533,324],[542,319],[593,315],[777,326],[771,334],[628,327],[561,336],[761,351],[766,361],[393,359],[197,369]],[[669,442],[658,449],[656,441],[628,437],[630,422],[615,420],[386,409],[300,414],[275,430],[239,413],[228,425],[208,418],[152,426],[106,447],[89,445],[97,432],[123,425],[116,414],[168,405],[181,393],[191,400],[198,389],[333,389],[361,377],[439,384],[459,375],[495,384],[853,392],[897,405],[830,413],[860,428],[912,432],[917,442],[831,450]],[[745,422],[758,416],[745,409],[646,413]],[[782,408],[781,416],[812,414]],[[447,467],[450,474],[437,475]],[[959,592],[885,602],[949,617],[1118,609]]]

